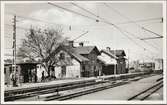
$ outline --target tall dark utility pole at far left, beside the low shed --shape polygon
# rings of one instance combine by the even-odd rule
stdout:
[[[14,79],[16,78],[16,15],[13,18],[13,62],[12,62],[12,69],[14,72]],[[13,83],[13,85],[16,85]]]

